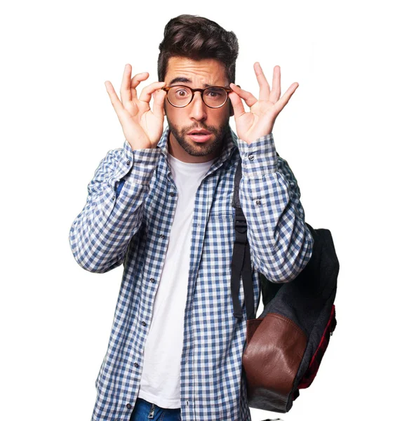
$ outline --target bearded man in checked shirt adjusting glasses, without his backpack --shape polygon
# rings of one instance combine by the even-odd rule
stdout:
[[[236,319],[230,290],[234,175],[241,160],[257,309],[257,273],[291,281],[312,253],[297,182],[272,136],[297,83],[280,98],[280,68],[270,90],[255,63],[259,97],[243,91],[236,36],[206,18],[170,20],[159,49],[159,81],[140,97],[148,74],[132,77],[130,65],[121,99],[105,83],[126,140],[100,162],[69,236],[84,269],[124,267],[92,420],[250,420],[245,307]]]

